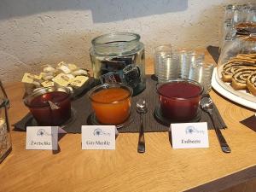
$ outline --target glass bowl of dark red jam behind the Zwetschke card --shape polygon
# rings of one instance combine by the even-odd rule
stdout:
[[[38,88],[24,98],[38,125],[63,125],[71,118],[71,91],[66,87]]]

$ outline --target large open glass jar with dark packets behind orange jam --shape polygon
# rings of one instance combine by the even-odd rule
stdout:
[[[114,32],[91,41],[90,61],[97,83],[124,83],[137,95],[146,88],[145,53],[140,36]]]

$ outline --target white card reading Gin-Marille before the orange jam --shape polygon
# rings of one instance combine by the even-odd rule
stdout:
[[[82,149],[115,149],[114,125],[82,125]]]

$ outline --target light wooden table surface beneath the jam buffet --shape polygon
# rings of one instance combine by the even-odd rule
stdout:
[[[207,61],[212,57],[206,52]],[[153,73],[152,60],[146,73]],[[23,84],[6,84],[10,124],[27,112]],[[137,153],[137,133],[121,133],[115,150],[82,150],[81,135],[67,134],[60,153],[26,150],[26,132],[11,131],[13,150],[0,165],[0,191],[218,191],[255,177],[256,134],[239,121],[255,111],[212,90],[212,100],[228,129],[222,133],[232,153],[224,154],[213,130],[209,148],[173,149],[168,132],[145,133],[146,153]],[[13,127],[12,127],[13,128]]]

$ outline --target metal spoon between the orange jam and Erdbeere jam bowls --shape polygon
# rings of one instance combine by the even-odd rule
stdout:
[[[138,153],[144,153],[145,152],[145,138],[144,138],[144,127],[143,127],[142,114],[148,112],[147,102],[143,99],[139,99],[136,102],[136,110],[137,110],[137,113],[140,114],[140,122],[141,122],[139,140],[138,140],[138,143],[137,143],[137,152]]]

